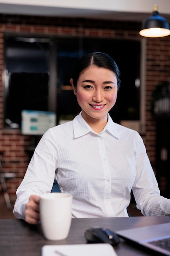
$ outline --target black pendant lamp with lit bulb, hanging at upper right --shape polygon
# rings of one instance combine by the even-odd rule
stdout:
[[[159,15],[157,4],[154,4],[152,16],[142,22],[142,28],[139,34],[146,37],[163,37],[170,35],[169,23],[165,18]]]

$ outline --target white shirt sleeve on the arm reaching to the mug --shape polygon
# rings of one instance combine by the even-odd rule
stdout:
[[[25,218],[25,206],[30,195],[51,192],[57,168],[56,145],[55,136],[49,129],[35,148],[24,179],[16,191],[17,200],[13,209],[16,218]]]

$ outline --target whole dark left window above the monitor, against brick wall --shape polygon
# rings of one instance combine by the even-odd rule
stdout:
[[[21,111],[48,110],[49,43],[46,39],[5,37],[4,124],[21,124]]]

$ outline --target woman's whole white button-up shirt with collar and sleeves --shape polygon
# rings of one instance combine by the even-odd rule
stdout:
[[[42,136],[17,190],[17,218],[24,218],[30,195],[50,193],[54,177],[61,192],[73,195],[75,218],[128,216],[131,190],[144,215],[170,215],[170,200],[160,196],[140,135],[109,115],[100,134],[80,112]]]

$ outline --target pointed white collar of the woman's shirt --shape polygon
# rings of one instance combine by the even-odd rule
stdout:
[[[88,132],[96,133],[92,130],[92,128],[86,123],[86,121],[82,117],[82,111],[73,119],[73,130],[74,130],[74,137],[78,138],[81,137]],[[111,119],[110,115],[108,114],[108,122],[104,127],[104,130],[100,133],[102,135],[103,132],[109,132],[116,138],[119,138],[119,133],[117,131],[117,126]],[[97,133],[96,133],[97,134]]]

